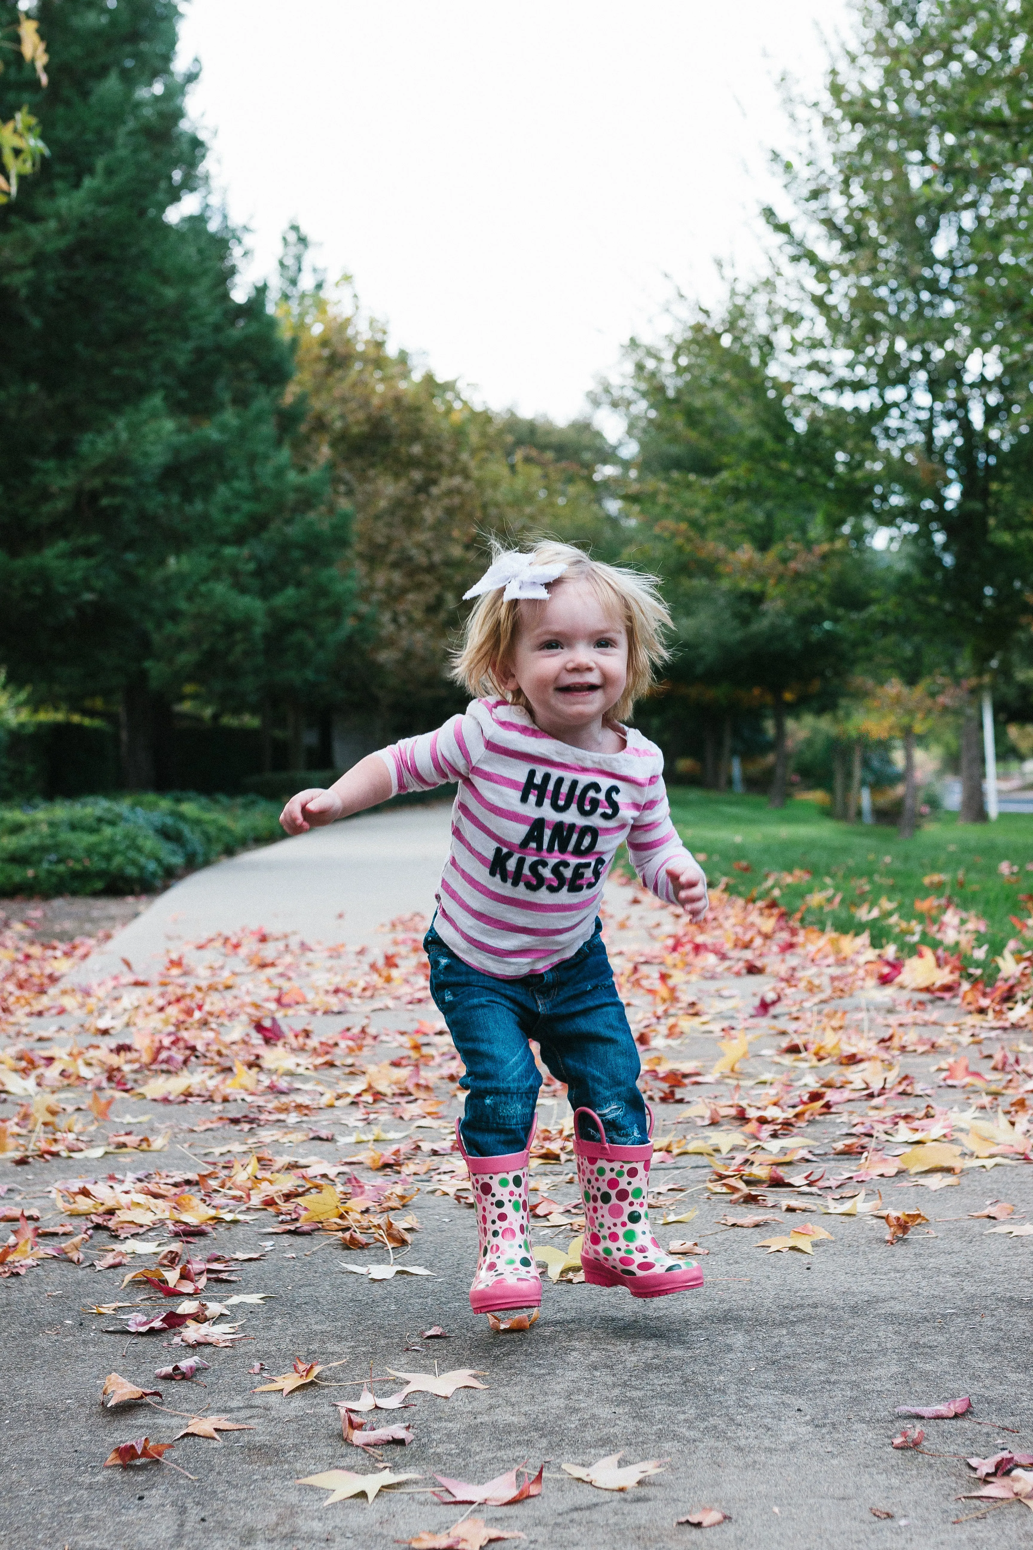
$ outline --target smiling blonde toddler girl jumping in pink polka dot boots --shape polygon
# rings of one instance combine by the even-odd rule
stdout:
[[[288,834],[396,792],[458,783],[452,845],[424,939],[431,995],[466,1073],[457,1125],[477,1204],[475,1313],[536,1308],[527,1173],[541,1076],[567,1083],[585,1209],[585,1282],[661,1297],[703,1283],[649,1226],[652,1114],[599,935],[624,840],[641,880],[692,919],[706,879],[669,817],[663,756],[624,725],[666,657],[655,583],[567,544],[500,553],[466,597],[454,676],[474,699],[437,732],[370,753],[283,809]]]

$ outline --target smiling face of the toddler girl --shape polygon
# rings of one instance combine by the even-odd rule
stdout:
[[[499,679],[522,688],[542,730],[601,727],[627,684],[627,629],[587,581],[556,581],[520,603],[520,631]]]

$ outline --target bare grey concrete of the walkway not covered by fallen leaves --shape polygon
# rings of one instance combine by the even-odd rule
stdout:
[[[163,894],[87,963],[87,978],[122,956],[141,969],[169,946],[240,925],[293,928],[324,941],[342,935],[355,944],[383,941],[373,935],[376,925],[409,911],[431,913],[446,842],[448,808],[434,806],[372,814],[242,856]],[[751,981],[751,990],[759,984]],[[700,981],[700,1001],[719,1006],[722,987],[740,990],[742,980]],[[410,1012],[384,1014],[386,1043],[376,1059],[389,1059],[395,1051],[387,1040],[403,1038],[426,1015],[424,1008]],[[681,1057],[712,1063],[712,1035],[689,1035]],[[908,1057],[908,1066],[929,1082],[939,1059]],[[84,1093],[70,1090],[68,1097],[82,1102]],[[195,1167],[208,1156],[201,1149],[225,1139],[225,1132],[212,1139],[211,1132],[190,1128],[209,1119],[208,1108],[156,1116],[155,1107],[119,1096],[112,1122],[133,1116],[142,1122],[150,1114],[173,1124],[163,1167]],[[663,1128],[674,1107],[661,1114]],[[341,1135],[308,1141],[307,1155],[331,1159],[350,1152],[348,1110],[328,1110],[327,1122]],[[832,1121],[812,1130],[819,1166],[830,1162],[839,1135]],[[54,1180],[77,1172],[102,1176],[112,1161],[5,1170],[3,1204],[17,1200],[53,1212],[46,1190]],[[664,1166],[661,1176],[671,1178],[675,1169]],[[170,1418],[142,1406],[101,1410],[104,1376],[116,1370],[147,1384],[160,1362],[183,1355],[164,1348],[161,1338],[108,1335],[118,1321],[87,1311],[94,1300],[136,1296],[119,1293],[124,1273],[96,1276],[87,1266],[73,1271],[45,1262],[22,1280],[5,1282],[5,1550],[389,1550],[418,1530],[441,1533],[462,1516],[465,1508],[441,1507],[429,1494],[386,1493],[372,1507],[364,1500],[324,1507],[317,1491],[294,1485],[322,1469],[375,1468],[342,1443],[330,1404],[356,1395],[358,1384],[328,1393],[308,1389],[287,1401],[251,1392],[260,1381],[248,1375],[252,1362],[282,1373],[294,1358],[344,1362],[325,1376],[348,1384],[370,1370],[427,1372],[435,1359],[441,1370],[482,1370],[485,1390],[462,1390],[449,1401],[421,1397],[406,1410],[417,1442],[384,1449],[386,1463],[423,1476],[412,1482],[423,1493],[437,1472],[480,1482],[522,1459],[533,1468],[547,1460],[537,1500],[474,1510],[505,1531],[527,1534],[528,1550],[677,1550],[694,1542],[697,1530],[675,1527],[675,1519],[708,1504],[731,1514],[714,1530],[717,1550],[1025,1544],[1030,1517],[1022,1505],[982,1521],[954,1525],[952,1519],[980,1505],[954,1500],[973,1488],[959,1454],[990,1454],[1005,1443],[1033,1448],[1030,1238],[985,1237],[987,1221],[968,1218],[997,1194],[1016,1203],[1016,1220],[1024,1214],[1028,1220],[1028,1170],[970,1172],[960,1187],[935,1195],[891,1184],[891,1204],[925,1207],[928,1231],[889,1249],[883,1223],[838,1218],[832,1240],[813,1259],[767,1256],[756,1235],[722,1232],[728,1206],[706,1192],[708,1161],[680,1158],[677,1172],[692,1189],[677,1209],[695,1203],[697,1215],[689,1228],[663,1228],[663,1237],[688,1231],[711,1249],[706,1288],[633,1304],[621,1291],[547,1285],[541,1324],[527,1336],[492,1336],[483,1319],[471,1316],[474,1217],[429,1190],[415,1203],[423,1226],[412,1251],[434,1273],[426,1279],[369,1283],[345,1273],[365,1263],[365,1254],[310,1259],[310,1240],[268,1237],[273,1218],[265,1214],[232,1234],[201,1240],[204,1251],[215,1242],[256,1252],[271,1245],[262,1263],[246,1266],[240,1290],[273,1293],[276,1300],[248,1310],[254,1344],[206,1353],[212,1364],[206,1389],[164,1386],[170,1407],[211,1404],[212,1414],[254,1428],[223,1443],[178,1445],[173,1462],[195,1480],[158,1465],[132,1474],[101,1468],[116,1442],[172,1434]],[[564,1198],[568,1183],[556,1176]],[[655,1212],[657,1223],[661,1215]],[[686,1215],[674,1221],[685,1223]],[[564,1245],[565,1234],[553,1234],[553,1242]],[[418,1331],[432,1324],[444,1325],[451,1339],[421,1342]],[[386,1378],[376,1389],[395,1386]],[[962,1393],[973,1395],[980,1420],[1019,1431],[932,1421],[926,1448],[937,1457],[891,1448],[901,1426],[897,1404]],[[564,1460],[589,1465],[618,1449],[629,1463],[668,1460],[666,1469],[627,1494],[596,1491],[559,1469]],[[875,1516],[873,1508],[894,1516]]]

